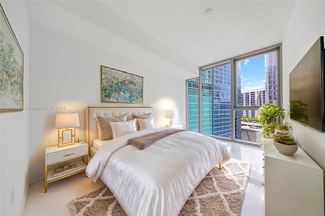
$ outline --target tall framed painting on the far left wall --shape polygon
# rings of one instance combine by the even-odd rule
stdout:
[[[23,110],[23,52],[0,4],[0,111]]]

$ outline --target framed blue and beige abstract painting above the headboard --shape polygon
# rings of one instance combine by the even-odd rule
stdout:
[[[102,102],[143,103],[143,77],[101,65]]]

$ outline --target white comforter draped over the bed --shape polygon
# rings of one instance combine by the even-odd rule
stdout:
[[[168,128],[113,139],[87,166],[87,175],[94,182],[101,177],[127,215],[178,215],[206,174],[230,159],[220,141],[192,131],[174,133],[144,150],[127,145],[129,138],[161,130]]]

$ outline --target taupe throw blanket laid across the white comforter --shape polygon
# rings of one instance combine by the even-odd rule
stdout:
[[[127,143],[129,143],[135,147],[138,147],[140,150],[143,150],[143,149],[147,148],[148,146],[150,146],[155,141],[162,139],[166,136],[169,136],[173,133],[177,133],[177,132],[181,132],[181,131],[185,131],[185,130],[170,129],[170,130],[164,130],[164,131],[160,131],[160,132],[156,132],[156,133],[149,133],[146,135],[128,139]]]

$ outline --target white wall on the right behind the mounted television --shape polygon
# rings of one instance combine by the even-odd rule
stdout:
[[[296,1],[282,42],[283,106],[289,111],[289,73],[316,42],[325,36],[325,2]],[[288,120],[288,114],[286,115]],[[325,170],[325,133],[290,120],[299,146]],[[325,176],[325,171],[324,171]],[[325,187],[324,187],[325,188]]]

